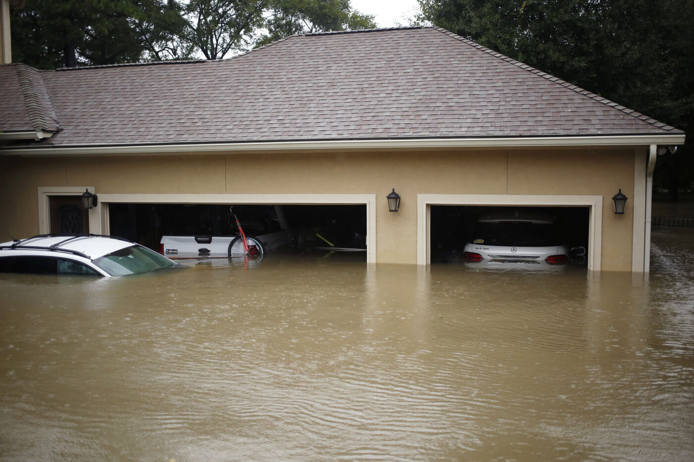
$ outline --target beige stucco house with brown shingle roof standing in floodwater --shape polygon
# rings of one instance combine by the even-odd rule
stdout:
[[[325,239],[361,237],[366,262],[426,265],[513,207],[555,216],[588,271],[642,273],[658,153],[684,143],[438,27],[293,35],[227,60],[9,63],[0,88],[0,241],[70,230],[155,247],[220,232],[235,205],[259,227],[323,217]]]

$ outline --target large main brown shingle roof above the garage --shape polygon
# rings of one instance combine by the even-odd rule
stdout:
[[[38,145],[681,133],[440,28],[40,74],[62,131]]]

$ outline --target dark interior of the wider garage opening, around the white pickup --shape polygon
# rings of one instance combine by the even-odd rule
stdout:
[[[262,241],[267,255],[328,251],[366,260],[366,205],[108,205],[110,234],[157,251],[162,237],[178,236],[197,237],[194,245],[214,253],[208,238],[237,236],[235,217],[246,236]]]

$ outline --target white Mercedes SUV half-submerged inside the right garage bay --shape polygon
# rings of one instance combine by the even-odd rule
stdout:
[[[568,249],[554,217],[515,210],[481,216],[471,242],[465,244],[468,263],[564,265]]]

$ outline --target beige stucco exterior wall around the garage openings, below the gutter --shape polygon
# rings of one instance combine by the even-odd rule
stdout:
[[[0,157],[1,223],[37,234],[39,187],[96,194],[375,194],[376,261],[417,262],[417,194],[600,195],[602,270],[632,271],[635,150]],[[395,188],[400,211],[388,212]],[[629,196],[624,216],[611,197]],[[5,230],[2,240],[9,239]]]

